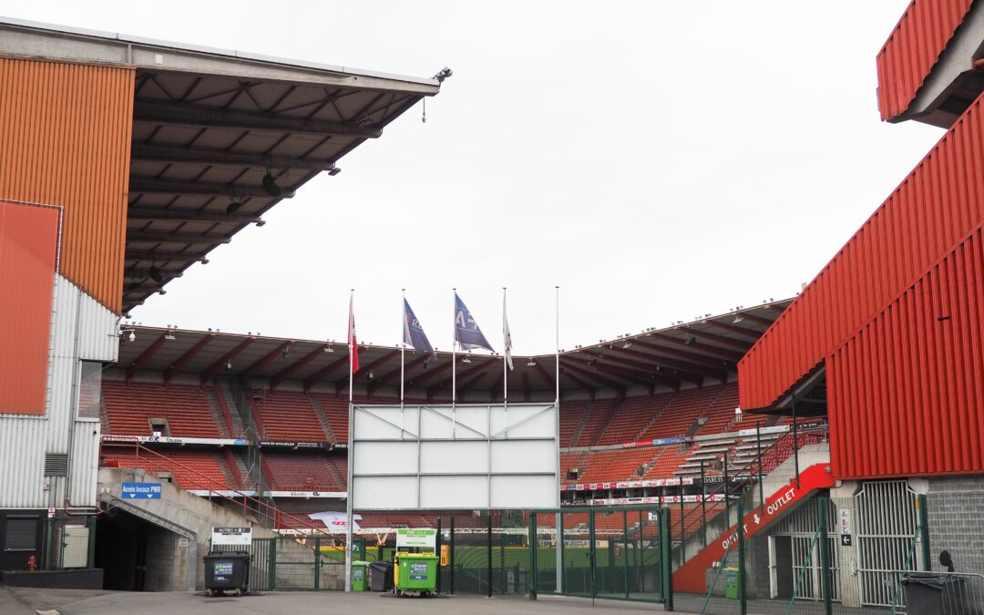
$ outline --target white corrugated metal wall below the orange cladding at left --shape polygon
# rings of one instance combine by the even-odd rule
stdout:
[[[79,360],[117,358],[115,315],[65,277],[56,277],[54,294],[45,416],[0,416],[0,508],[61,505],[65,481],[54,480],[51,489],[44,489],[44,455],[69,452],[70,417],[79,398]],[[94,506],[99,420],[77,419],[74,425],[71,501],[74,506]]]

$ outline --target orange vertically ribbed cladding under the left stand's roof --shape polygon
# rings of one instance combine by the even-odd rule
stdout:
[[[119,314],[134,71],[0,58],[0,199],[64,208],[60,272]]]

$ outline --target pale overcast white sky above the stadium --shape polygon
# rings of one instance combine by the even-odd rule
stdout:
[[[879,2],[0,2],[3,14],[454,77],[134,310],[145,325],[519,353],[792,296],[943,131],[879,120]]]

